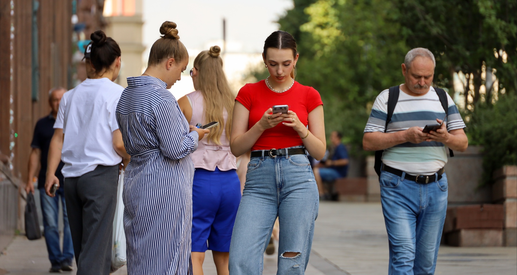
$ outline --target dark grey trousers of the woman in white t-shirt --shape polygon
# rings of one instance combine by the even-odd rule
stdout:
[[[99,165],[84,175],[65,178],[77,275],[110,273],[117,185],[118,165]]]

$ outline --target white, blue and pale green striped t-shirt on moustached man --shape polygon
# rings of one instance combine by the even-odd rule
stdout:
[[[364,133],[385,132],[388,95],[389,90],[386,89],[377,96]],[[445,122],[447,131],[465,128],[458,108],[449,94],[447,94],[447,101],[449,103],[449,115]],[[400,89],[399,101],[393,111],[391,121],[388,123],[386,133],[403,131],[413,126],[423,128],[427,124],[437,124],[436,119],[441,120],[444,117],[444,108],[433,87],[428,93],[421,96],[412,96]],[[442,142],[423,141],[417,144],[405,142],[384,150],[382,160],[384,164],[409,174],[429,175],[445,166],[447,153]]]

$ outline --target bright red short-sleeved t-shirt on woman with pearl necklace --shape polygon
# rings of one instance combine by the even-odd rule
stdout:
[[[295,81],[293,87],[283,93],[271,91],[265,80],[246,84],[237,94],[236,101],[250,111],[248,130],[264,115],[264,112],[274,105],[288,105],[289,110],[296,113],[303,125],[308,124],[309,113],[317,106],[323,105],[320,93],[314,88],[303,86]],[[303,142],[293,127],[280,122],[277,126],[267,129],[255,142],[251,150],[282,149],[303,145]]]

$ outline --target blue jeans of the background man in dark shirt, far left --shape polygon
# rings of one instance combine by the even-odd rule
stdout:
[[[45,189],[39,189],[41,201],[41,213],[43,214],[43,228],[45,231],[45,242],[49,252],[49,260],[52,266],[60,266],[63,262],[72,263],[73,245],[68,216],[66,213],[65,193],[63,187],[59,187],[54,198],[45,194]],[[63,205],[63,252],[59,241],[58,215],[59,199]]]

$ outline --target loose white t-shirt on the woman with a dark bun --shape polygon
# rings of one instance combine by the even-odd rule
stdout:
[[[88,78],[63,95],[54,128],[65,134],[61,152],[65,177],[122,161],[113,148],[113,131],[118,130],[115,110],[123,90],[108,78]]]

